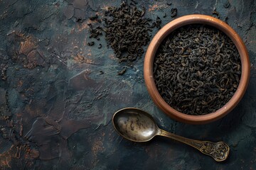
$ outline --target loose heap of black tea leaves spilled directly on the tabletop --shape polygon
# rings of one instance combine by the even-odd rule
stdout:
[[[161,28],[161,19],[157,16],[155,21],[145,18],[144,6],[122,2],[121,6],[110,6],[102,18],[102,26],[95,28],[90,25],[90,38],[96,38],[105,32],[107,45],[112,47],[119,62],[132,63],[137,57],[144,54],[143,47],[150,41],[152,28]],[[96,17],[91,20],[95,21]],[[97,18],[99,20],[99,18]],[[88,42],[88,45],[94,45]]]

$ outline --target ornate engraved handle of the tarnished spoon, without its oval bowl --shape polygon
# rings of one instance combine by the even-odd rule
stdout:
[[[217,162],[222,162],[227,159],[230,152],[230,148],[224,142],[214,143],[209,141],[190,140],[186,137],[181,137],[174,135],[171,132],[166,132],[165,130],[161,130],[160,135],[190,145],[191,147],[198,149],[203,154],[213,157],[213,159],[215,159]]]

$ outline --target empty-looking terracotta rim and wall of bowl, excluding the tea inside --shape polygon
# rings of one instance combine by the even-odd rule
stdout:
[[[176,30],[181,26],[186,26],[188,24],[205,24],[209,26],[213,26],[218,28],[219,30],[223,31],[228,37],[233,40],[235,46],[238,48],[238,52],[240,54],[240,60],[242,64],[242,74],[240,78],[240,84],[238,86],[237,91],[235,92],[234,96],[230,98],[230,101],[225,104],[222,108],[219,108],[218,111],[214,113],[208,113],[206,115],[187,115],[185,113],[181,113],[176,111],[174,108],[171,108],[169,104],[167,104],[159,91],[156,89],[156,84],[154,83],[154,76],[153,76],[153,63],[154,63],[154,56],[156,55],[156,51],[161,44],[161,42],[169,35],[172,31]],[[217,18],[213,18],[211,16],[205,15],[188,15],[182,16],[180,18],[171,21],[170,23],[166,24],[158,33],[154,36],[153,40],[146,51],[146,57],[144,60],[144,80],[146,83],[146,88],[149,91],[149,94],[156,103],[161,111],[164,111],[167,115],[169,115],[174,120],[183,122],[183,123],[190,123],[190,124],[206,124],[223,118],[223,116],[230,113],[230,111],[237,106],[238,102],[241,100],[242,96],[245,94],[247,89],[247,84],[250,79],[250,60],[248,57],[248,53],[245,47],[245,44],[242,42],[242,39],[235,33],[235,30],[228,26],[228,24],[220,21]]]

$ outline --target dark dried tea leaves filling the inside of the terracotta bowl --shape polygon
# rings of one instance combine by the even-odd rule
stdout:
[[[189,115],[213,113],[238,88],[240,55],[230,38],[210,26],[175,30],[159,46],[154,80],[166,103]]]

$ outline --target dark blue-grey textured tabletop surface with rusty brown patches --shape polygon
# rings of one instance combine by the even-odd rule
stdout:
[[[87,18],[120,3],[0,0],[0,169],[256,169],[255,1],[139,1],[146,17],[162,19],[161,26],[174,20],[171,8],[178,8],[175,18],[211,16],[215,8],[245,42],[252,63],[247,92],[231,113],[208,125],[178,123],[156,108],[144,84],[144,57],[119,76],[125,63],[118,63],[103,37],[86,45]],[[122,139],[111,118],[129,106],[151,113],[164,130],[227,142],[229,159],[214,162],[162,137]]]

